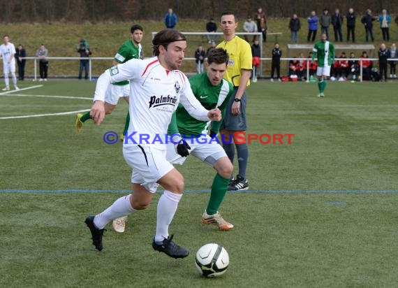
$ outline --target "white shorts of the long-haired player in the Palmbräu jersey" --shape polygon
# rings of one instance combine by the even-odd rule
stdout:
[[[131,183],[140,184],[151,193],[158,189],[159,179],[174,168],[165,158],[166,150],[148,145],[123,145],[123,156],[133,168]]]

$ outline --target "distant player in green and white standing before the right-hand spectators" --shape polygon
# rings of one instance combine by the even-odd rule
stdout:
[[[315,55],[318,59],[318,68],[316,76],[318,77],[318,97],[324,97],[326,80],[330,76],[330,67],[334,63],[334,46],[333,43],[327,41],[326,34],[320,35],[320,41],[316,42],[313,49],[311,64],[314,63]]]

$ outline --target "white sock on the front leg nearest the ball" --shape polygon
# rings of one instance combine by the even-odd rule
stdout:
[[[168,238],[168,226],[175,215],[175,211],[177,211],[181,197],[182,194],[175,194],[168,190],[163,192],[158,203],[155,242],[161,243],[165,238]]]

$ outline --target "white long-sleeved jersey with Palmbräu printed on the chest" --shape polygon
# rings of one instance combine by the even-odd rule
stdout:
[[[131,88],[131,117],[124,145],[154,145],[165,150],[168,125],[179,102],[196,119],[209,120],[208,110],[193,95],[186,75],[179,70],[165,69],[157,57],[131,59],[105,71],[98,78],[94,101],[104,101],[110,82],[122,80],[130,80]],[[142,141],[142,135],[146,135],[149,143]]]

